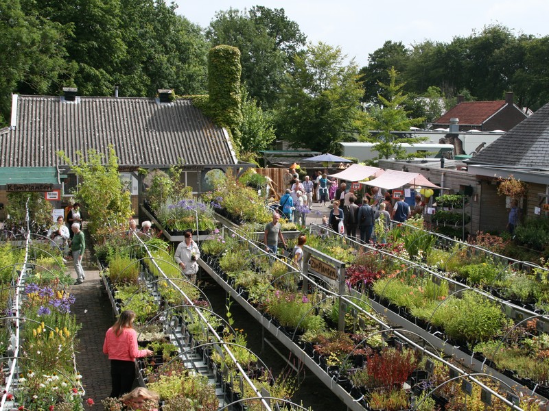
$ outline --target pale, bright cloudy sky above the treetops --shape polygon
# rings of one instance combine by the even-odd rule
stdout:
[[[169,3],[169,1],[167,1]],[[425,40],[451,42],[485,25],[502,24],[515,35],[549,34],[549,0],[175,0],[176,12],[207,27],[219,10],[254,5],[283,8],[307,41],[341,47],[362,67],[386,40],[404,45]]]

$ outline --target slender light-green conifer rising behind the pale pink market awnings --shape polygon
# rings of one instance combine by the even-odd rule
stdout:
[[[377,98],[382,102],[382,106],[377,106],[372,110],[372,117],[375,129],[381,130],[376,136],[378,143],[374,150],[379,151],[379,158],[389,158],[395,154],[395,158],[406,158],[406,151],[399,147],[399,143],[421,142],[421,138],[399,138],[390,132],[405,131],[411,126],[419,125],[423,122],[423,118],[410,119],[409,112],[404,109],[404,105],[408,100],[408,96],[404,95],[402,88],[404,84],[397,84],[397,71],[395,67],[388,70],[389,83],[384,84],[379,82],[379,87],[382,88],[384,95],[379,94]]]

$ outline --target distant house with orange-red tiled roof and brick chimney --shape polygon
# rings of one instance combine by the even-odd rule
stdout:
[[[458,119],[461,132],[471,129],[507,132],[526,118],[528,116],[513,103],[512,92],[506,93],[505,100],[498,101],[463,101],[460,95],[458,104],[434,121],[432,128],[447,128],[452,119]]]

